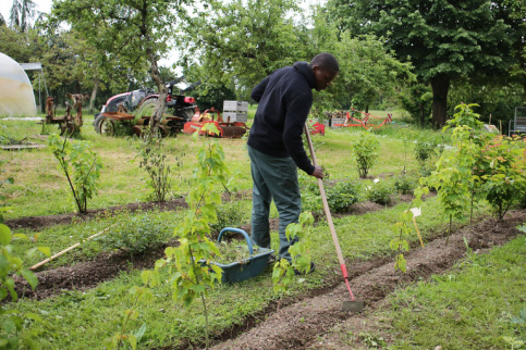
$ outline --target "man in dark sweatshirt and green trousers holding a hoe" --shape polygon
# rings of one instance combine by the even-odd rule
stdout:
[[[285,229],[297,223],[302,212],[297,167],[323,178],[321,167],[310,163],[302,140],[313,104],[311,90],[325,90],[339,71],[332,54],[320,53],[310,63],[296,62],[273,72],[252,91],[252,98],[259,103],[247,142],[254,180],[252,239],[261,248],[270,248],[273,200],[280,216],[280,259],[291,261],[289,247],[295,241],[286,239]],[[314,264],[310,267],[314,270]]]

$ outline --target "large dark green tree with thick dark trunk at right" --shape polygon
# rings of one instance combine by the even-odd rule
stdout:
[[[491,75],[509,66],[509,25],[486,0],[331,0],[341,28],[382,36],[431,84],[432,120],[447,120],[450,83],[463,75]]]

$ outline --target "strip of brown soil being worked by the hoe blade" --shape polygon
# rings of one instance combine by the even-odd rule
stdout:
[[[504,221],[488,220],[464,227],[452,234],[445,246],[445,238],[438,238],[425,248],[406,254],[407,273],[397,273],[389,262],[351,280],[353,292],[366,300],[366,310],[374,310],[378,302],[396,288],[411,282],[440,274],[453,266],[466,252],[464,237],[474,251],[500,246],[519,232],[517,224],[524,223],[526,212],[513,212]],[[338,287],[309,299],[303,299],[268,315],[267,320],[248,329],[235,339],[216,345],[215,349],[302,349],[302,348],[351,348],[335,343],[323,336],[334,326],[344,322],[355,322],[364,316],[342,312],[341,305],[348,300],[348,291],[343,282]],[[354,348],[354,347],[353,347]]]

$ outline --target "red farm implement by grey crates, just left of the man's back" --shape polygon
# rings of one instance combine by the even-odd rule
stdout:
[[[215,124],[219,134],[213,132],[206,132],[204,128],[207,124]],[[230,116],[227,122],[221,117],[221,112],[213,107],[200,113],[197,112],[192,120],[184,124],[183,133],[194,134],[199,133],[201,136],[221,137],[221,138],[240,138],[245,135],[246,124],[243,122],[230,122]]]

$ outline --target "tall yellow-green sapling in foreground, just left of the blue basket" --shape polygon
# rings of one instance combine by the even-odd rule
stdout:
[[[219,133],[213,124],[207,124],[205,132]],[[197,138],[198,133],[195,133]],[[221,282],[222,270],[211,264],[219,250],[208,239],[210,223],[217,221],[216,208],[221,203],[220,191],[228,180],[224,152],[217,140],[203,145],[197,152],[197,167],[194,171],[195,185],[186,197],[189,211],[175,228],[180,246],[164,250],[166,258],[156,262],[155,272],[144,272],[143,278],[150,286],[160,283],[160,268],[169,266],[171,275],[166,278],[174,289],[173,297],[183,305],[189,307],[200,298],[205,313],[205,336],[208,348],[208,309],[206,296],[209,288]],[[163,278],[164,279],[164,278]]]

